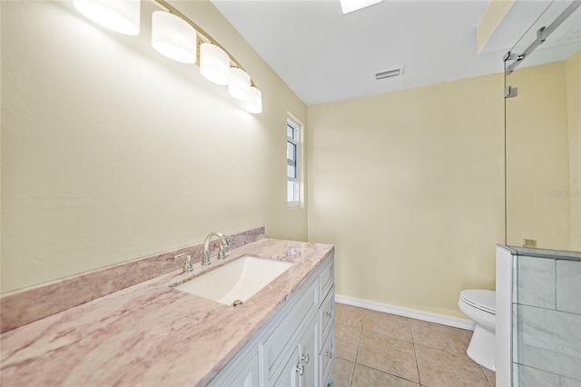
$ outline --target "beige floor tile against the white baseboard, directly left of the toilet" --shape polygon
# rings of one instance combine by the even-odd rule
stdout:
[[[463,329],[413,319],[409,325],[416,344],[454,354],[464,354],[468,349]]]

